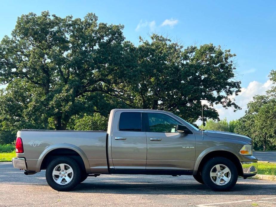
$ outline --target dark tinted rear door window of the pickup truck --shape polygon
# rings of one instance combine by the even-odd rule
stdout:
[[[141,112],[122,112],[119,121],[120,131],[142,131]]]

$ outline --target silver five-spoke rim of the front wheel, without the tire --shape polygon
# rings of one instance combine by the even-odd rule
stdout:
[[[218,186],[223,186],[229,183],[231,179],[231,171],[226,165],[218,164],[212,167],[210,177],[213,183]]]

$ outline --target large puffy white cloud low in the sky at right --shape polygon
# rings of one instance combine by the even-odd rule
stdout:
[[[228,121],[238,119],[245,114],[247,104],[249,101],[253,101],[254,95],[265,95],[266,91],[271,89],[272,86],[273,83],[270,80],[267,80],[265,83],[252,81],[246,88],[241,88],[238,96],[233,95],[230,97],[232,99],[235,98],[235,103],[242,108],[241,110],[234,112],[232,108],[225,109],[221,104],[215,105],[214,108],[218,111],[220,119],[227,118]]]

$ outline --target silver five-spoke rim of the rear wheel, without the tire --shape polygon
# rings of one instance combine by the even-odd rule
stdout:
[[[53,179],[59,185],[66,185],[71,182],[74,172],[70,165],[61,163],[53,169]]]

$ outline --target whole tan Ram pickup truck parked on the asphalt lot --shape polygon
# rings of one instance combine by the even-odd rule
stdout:
[[[246,136],[202,131],[166,111],[113,109],[107,132],[18,131],[13,166],[26,175],[46,169],[57,191],[100,174],[192,175],[227,191],[238,176],[257,174],[257,161]]]

